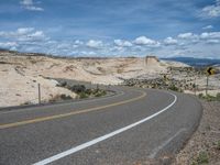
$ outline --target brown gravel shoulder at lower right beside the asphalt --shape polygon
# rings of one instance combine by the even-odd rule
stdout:
[[[173,165],[198,165],[199,153],[208,155],[208,165],[220,165],[220,102],[201,101],[204,116],[198,130],[177,154]]]

